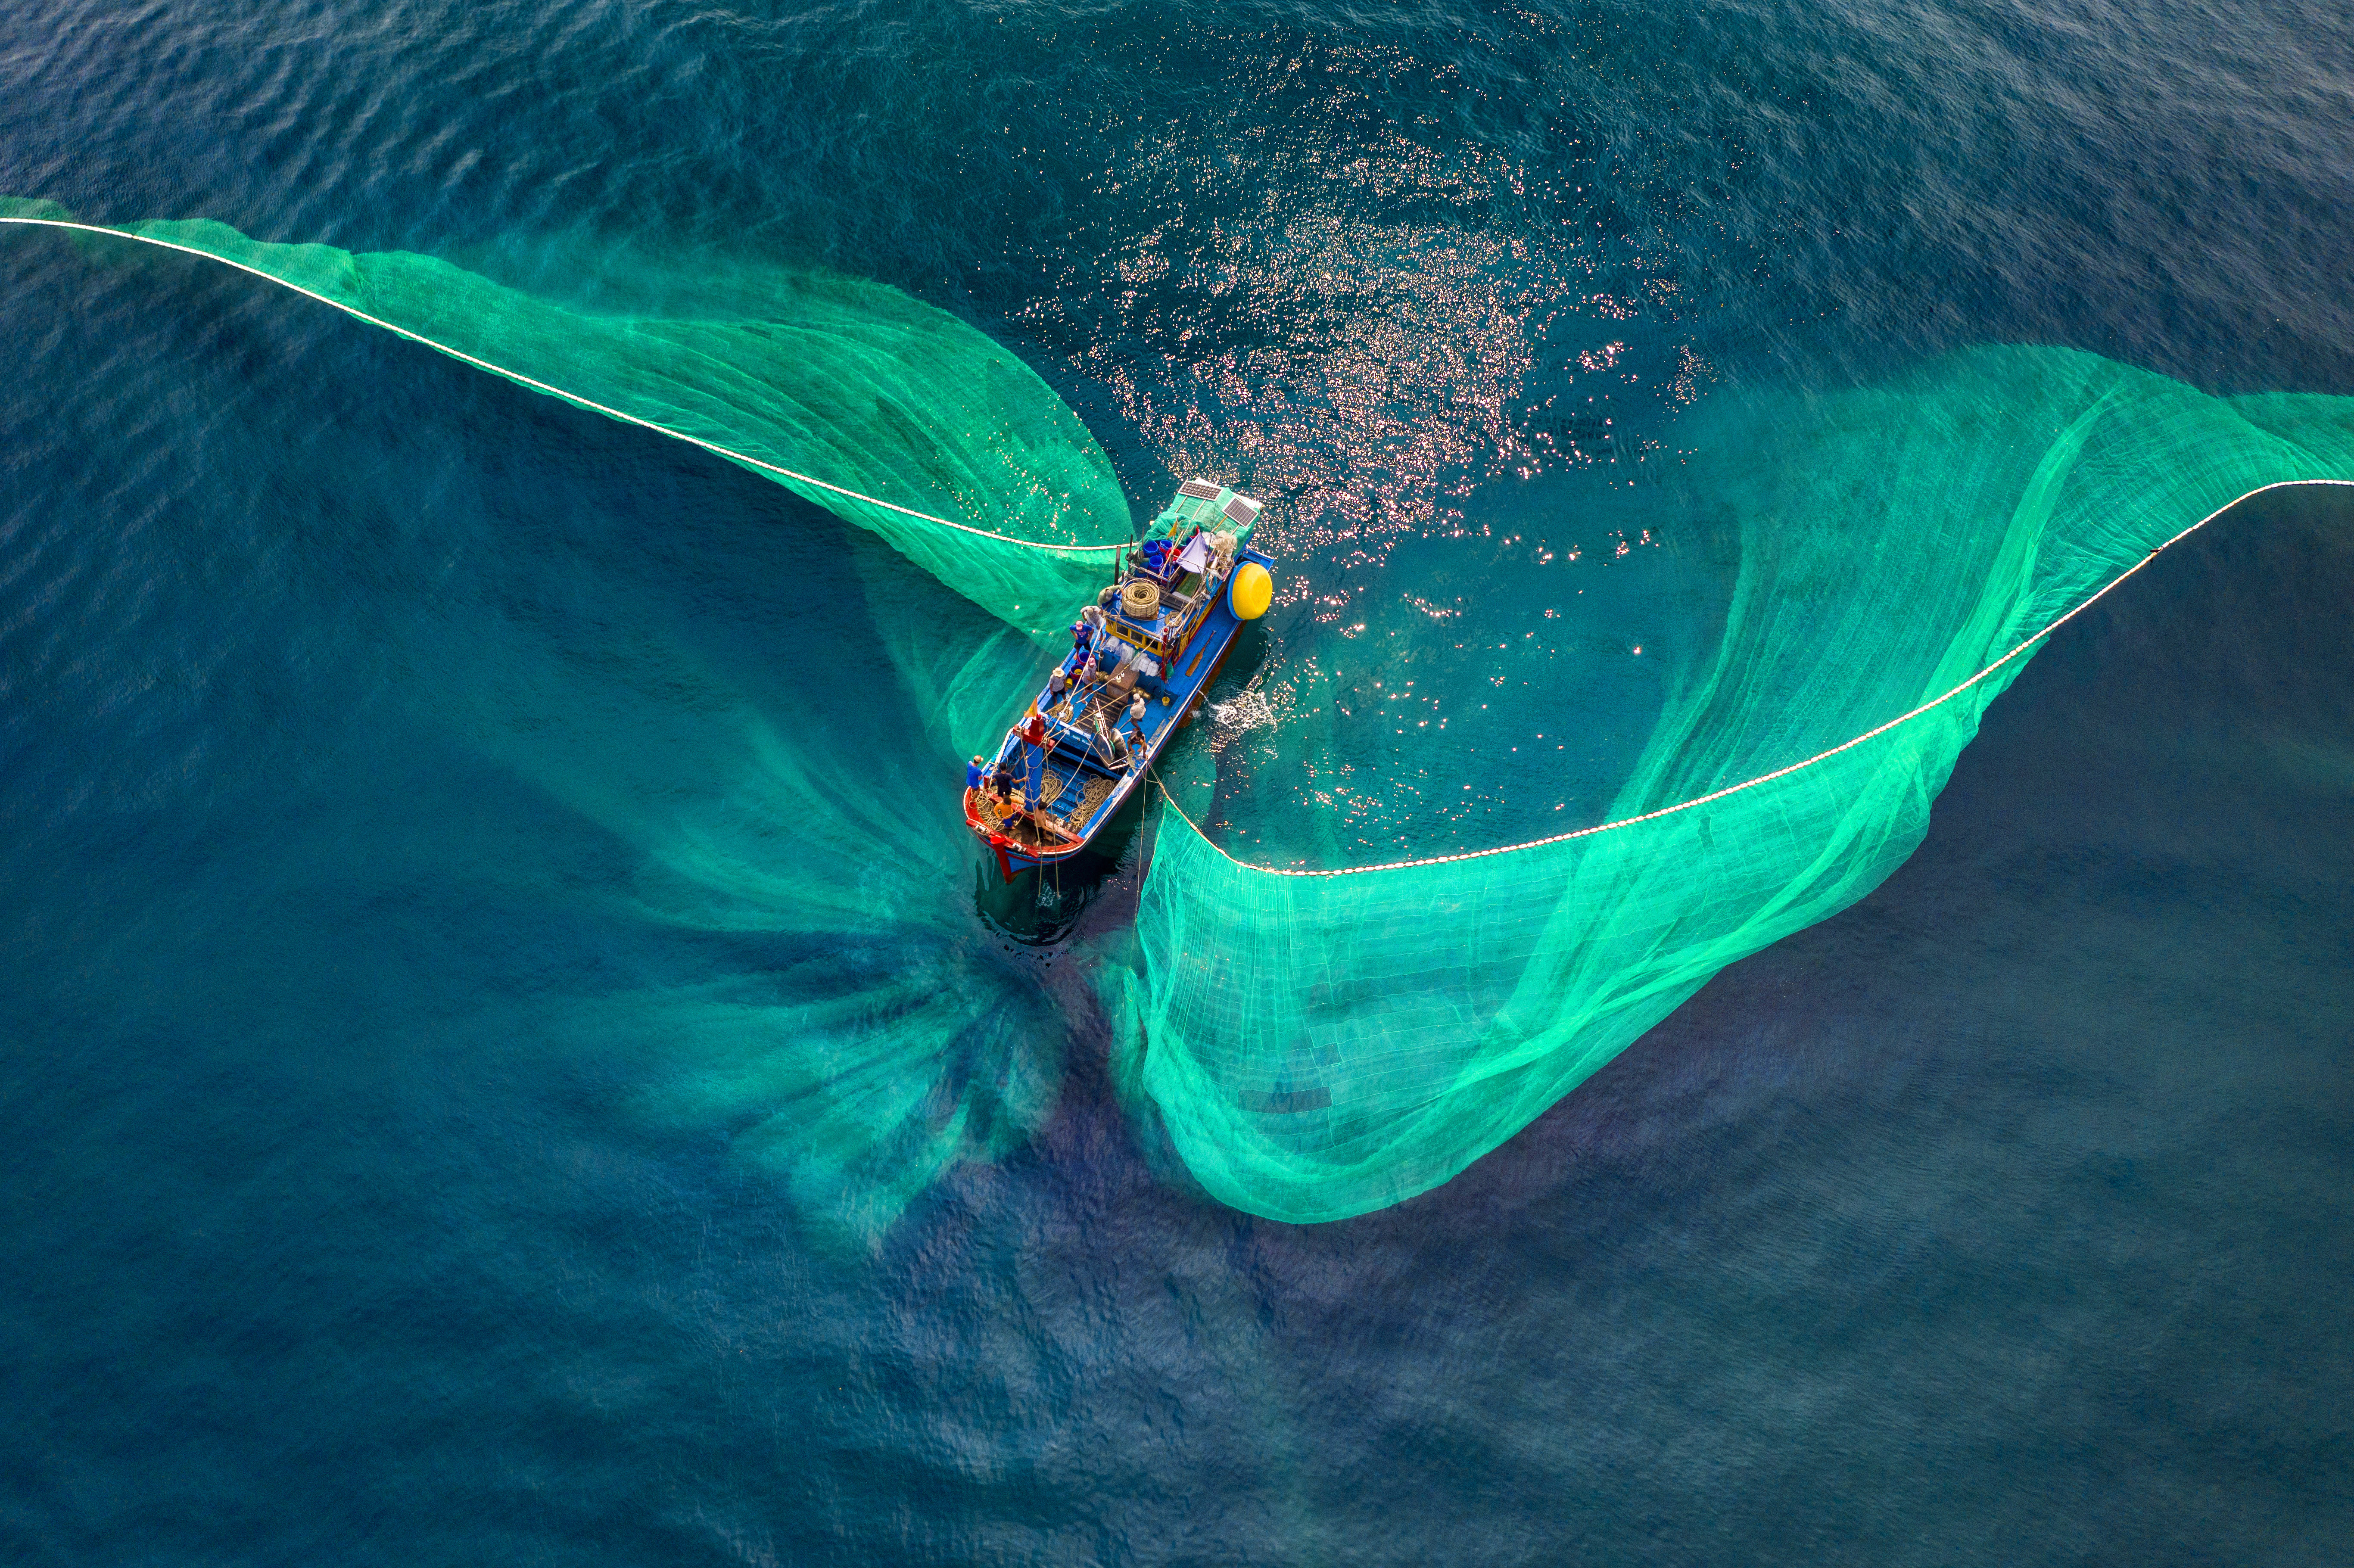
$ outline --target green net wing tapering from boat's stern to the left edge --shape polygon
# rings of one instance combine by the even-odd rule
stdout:
[[[80,224],[21,198],[0,198],[0,226],[226,261],[534,391],[692,440],[873,530],[1038,636],[1102,586],[1130,537],[1111,461],[1069,405],[982,332],[878,283],[541,266],[513,287],[414,252],[271,245],[205,219]]]

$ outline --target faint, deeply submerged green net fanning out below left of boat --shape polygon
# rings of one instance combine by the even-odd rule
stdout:
[[[880,544],[852,551],[883,582],[916,577]],[[829,702],[805,669],[758,683],[711,669],[614,591],[577,631],[478,622],[480,662],[435,671],[435,706],[636,852],[607,888],[636,918],[758,954],[697,965],[685,984],[671,972],[551,996],[518,1026],[636,1059],[638,1114],[697,1140],[725,1128],[734,1158],[819,1236],[866,1245],[953,1165],[1036,1135],[1062,1090],[1066,1026],[972,918],[963,822],[920,810],[949,800],[953,772],[911,744],[927,704],[869,647],[866,605],[824,582],[774,593],[800,629],[862,650],[838,666],[859,702]],[[977,607],[942,610],[937,586],[930,598],[979,645],[1015,636]]]

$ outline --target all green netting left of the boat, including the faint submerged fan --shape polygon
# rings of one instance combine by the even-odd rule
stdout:
[[[0,217],[73,221],[45,202]],[[944,1170],[1043,1123],[1064,1022],[1043,991],[1005,982],[998,939],[972,918],[975,852],[942,746],[970,753],[1003,730],[1038,678],[1033,638],[1062,645],[1109,579],[1109,551],[1022,542],[1128,539],[1130,511],[1097,443],[1015,356],[887,287],[782,268],[680,275],[523,252],[485,259],[506,268],[494,280],[419,254],[261,245],[221,224],[0,235],[73,266],[177,266],[155,245],[186,247],[574,403],[1012,534],[756,466],[871,530],[767,593],[779,614],[880,643],[899,692],[845,704],[805,680],[751,704],[621,600],[596,624],[513,633],[483,655],[476,687],[452,692],[443,671],[435,720],[633,845],[624,897],[645,918],[763,937],[758,975],[624,989],[558,1022],[659,1041],[671,1071],[647,1076],[647,1107],[730,1128],[824,1231],[871,1238]]]

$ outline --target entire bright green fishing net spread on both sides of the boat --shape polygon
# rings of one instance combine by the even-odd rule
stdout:
[[[428,257],[257,245],[219,224],[122,233],[751,459],[1019,633],[1059,624],[1104,579],[1102,556],[1071,546],[1125,539],[1125,501],[1078,419],[982,334],[876,285],[796,280],[758,308],[629,315]],[[1172,789],[1191,817],[1161,822],[1135,961],[1106,970],[1106,991],[1125,1095],[1217,1198],[1311,1222],[1436,1187],[1716,970],[1860,899],[1921,841],[2036,638],[2253,490],[2354,480],[2354,400],[2210,398],[2074,351],[1982,348],[1886,388],[1704,407],[1685,443],[1700,457],[1681,497],[1716,542],[1723,593],[1709,633],[1671,655],[1667,702],[1591,831],[1297,876],[1231,857],[1193,826],[1205,791]],[[885,614],[878,631],[935,749],[965,753],[1003,723],[1026,659],[1017,631],[970,614]],[[1575,716],[1577,692],[1556,702]],[[1325,765],[1354,742],[1306,727],[1299,744]],[[909,902],[913,883],[866,899],[845,869],[831,897],[855,909],[798,918],[946,942],[970,888],[958,848],[949,829],[899,857],[939,873],[935,911]],[[770,1137],[796,1147],[800,1172],[904,1194],[965,1147],[960,1116],[942,1116],[942,1064],[972,1055],[958,1041],[991,1001],[925,1010],[833,991],[791,1015],[824,1038],[756,1031],[796,1052],[796,1097],[824,1107],[779,1114]],[[1017,1099],[1033,1125],[1040,1095]],[[967,1144],[1003,1147],[1003,1125]]]

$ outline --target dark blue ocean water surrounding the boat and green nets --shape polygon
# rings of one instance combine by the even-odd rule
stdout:
[[[1467,742],[1561,746],[1554,800],[1401,746],[1335,803],[1370,857],[1608,798],[1629,650],[1693,612],[1650,471],[1695,407],[1975,344],[2354,391],[2349,33],[12,5],[0,193],[949,308],[1139,509],[1276,499],[1241,791],[1285,690],[1577,692],[1575,742]],[[927,777],[895,636],[963,610],[902,560],[198,261],[0,268],[7,1561],[2342,1561],[2342,494],[2057,636],[1860,906],[1455,1182],[1283,1227],[1113,1092],[1149,831],[1071,906],[829,928],[866,871],[796,843],[777,737]],[[812,975],[902,970],[986,1019],[951,1154],[826,1161]]]

